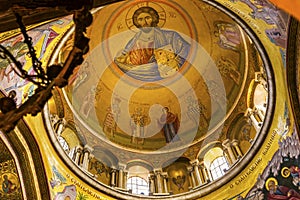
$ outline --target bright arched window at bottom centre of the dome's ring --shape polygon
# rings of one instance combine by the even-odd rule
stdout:
[[[149,195],[148,182],[138,176],[132,176],[127,180],[127,189],[131,190],[133,194]]]

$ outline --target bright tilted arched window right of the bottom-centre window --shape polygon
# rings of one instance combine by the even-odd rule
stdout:
[[[229,165],[224,156],[216,158],[210,165],[210,171],[213,180],[220,178],[225,174],[225,171],[229,169]]]

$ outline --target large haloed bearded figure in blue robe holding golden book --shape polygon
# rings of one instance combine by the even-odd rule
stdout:
[[[159,14],[152,7],[138,8],[132,21],[140,31],[116,56],[117,66],[127,75],[142,81],[174,75],[185,62],[190,44],[177,32],[160,29]]]

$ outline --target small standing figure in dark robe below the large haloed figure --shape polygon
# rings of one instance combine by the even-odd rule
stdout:
[[[163,133],[166,138],[166,142],[170,143],[173,139],[174,141],[179,140],[177,136],[179,130],[179,119],[178,116],[169,111],[168,107],[162,109],[163,114],[158,120],[158,123],[163,126]]]

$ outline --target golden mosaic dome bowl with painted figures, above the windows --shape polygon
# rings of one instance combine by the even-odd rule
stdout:
[[[159,18],[151,31],[137,28],[139,7]],[[150,151],[189,146],[221,131],[238,103],[246,109],[242,94],[263,66],[246,33],[207,4],[178,7],[132,2],[95,13],[91,51],[65,92],[96,137]]]

